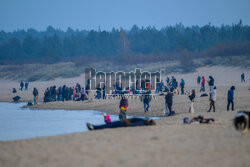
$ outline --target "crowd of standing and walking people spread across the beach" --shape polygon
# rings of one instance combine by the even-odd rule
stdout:
[[[241,82],[245,82],[245,74],[241,74]],[[165,84],[166,83],[166,84]],[[192,89],[190,92],[185,91],[185,81],[183,78],[180,80],[180,84],[178,84],[177,79],[172,76],[171,79],[169,77],[166,77],[166,82],[163,82],[163,80],[159,80],[157,78],[156,82],[156,90],[155,95],[163,96],[165,98],[165,115],[166,116],[172,116],[175,114],[175,112],[172,109],[172,106],[174,104],[174,96],[176,95],[187,95],[187,99],[190,103],[189,105],[189,113],[194,113],[194,101],[196,97],[195,90]],[[141,102],[143,103],[144,112],[149,112],[150,109],[150,102],[152,99],[152,92],[151,92],[151,82],[149,79],[141,79],[139,82],[138,80],[135,82],[135,84],[132,84],[128,88],[124,88],[122,83],[116,82],[114,86],[114,90],[112,91],[112,95],[119,95],[121,97],[120,104],[119,104],[119,119],[120,120],[126,120],[126,112],[129,105],[128,99],[126,99],[125,94],[139,94],[141,95]],[[204,76],[198,76],[197,77],[197,84],[200,85],[200,92],[201,97],[203,96],[209,96],[209,109],[208,112],[216,112],[216,86],[215,86],[215,80],[212,76],[208,77],[208,92],[209,95],[205,93],[205,87],[206,87],[206,80]],[[20,90],[22,91],[23,88],[25,90],[28,90],[29,83],[24,83],[23,81],[20,82]],[[106,85],[105,82],[102,83],[102,85],[98,84],[96,86],[96,90],[94,91],[94,97],[96,99],[106,99]],[[179,91],[180,88],[180,91]],[[227,92],[227,111],[229,111],[230,106],[231,110],[234,110],[234,91],[235,86],[231,86],[231,88]],[[16,89],[13,88],[13,93],[16,93]],[[90,93],[90,81],[87,81],[87,84],[84,87],[82,87],[79,83],[77,83],[75,86],[68,87],[66,85],[63,86],[51,86],[48,87],[44,92],[44,102],[54,102],[54,101],[84,101],[89,99],[89,93]],[[165,93],[165,94],[164,94]],[[34,88],[33,90],[33,96],[34,96],[34,104],[37,104],[38,101],[38,90]]]

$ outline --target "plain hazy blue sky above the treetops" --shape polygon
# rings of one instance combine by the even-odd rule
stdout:
[[[0,0],[0,30],[250,25],[250,0]]]

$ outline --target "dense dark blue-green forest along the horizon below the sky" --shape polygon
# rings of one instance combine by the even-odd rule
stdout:
[[[185,27],[181,23],[162,29],[138,27],[111,31],[46,31],[28,29],[0,32],[0,64],[99,61],[137,64],[197,57],[250,55],[250,26],[241,21],[215,27]]]

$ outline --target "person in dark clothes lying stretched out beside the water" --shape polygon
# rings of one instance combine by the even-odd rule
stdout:
[[[113,121],[109,124],[103,124],[103,125],[92,125],[90,123],[87,123],[87,127],[89,130],[133,127],[133,126],[149,126],[149,125],[156,125],[156,122],[152,119],[130,118],[122,121]]]

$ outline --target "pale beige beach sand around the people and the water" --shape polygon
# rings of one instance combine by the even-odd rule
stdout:
[[[209,73],[206,71],[209,71]],[[50,137],[0,142],[0,166],[249,166],[250,136],[237,132],[232,120],[238,110],[250,111],[249,83],[240,83],[242,69],[230,67],[204,67],[197,73],[175,74],[184,78],[190,91],[197,91],[195,113],[188,113],[186,95],[174,96],[173,117],[163,117],[164,97],[158,96],[150,103],[150,110],[143,111],[142,102],[129,100],[127,114],[135,116],[157,116],[156,126],[129,127],[72,133]],[[249,76],[249,71],[244,71]],[[213,75],[217,86],[216,112],[208,113],[209,98],[199,97],[197,74],[208,78]],[[171,75],[169,75],[171,76]],[[42,91],[50,85],[79,82],[82,79],[57,79],[35,82]],[[2,84],[3,83],[3,84]],[[11,101],[11,93],[5,89],[18,86],[17,82],[1,81],[1,101]],[[43,85],[42,85],[43,84]],[[73,84],[73,83],[72,83]],[[226,111],[226,95],[231,85],[235,90],[235,111]],[[12,87],[11,87],[12,88]],[[208,89],[208,88],[207,88]],[[28,92],[18,92],[23,100],[31,100]],[[41,92],[40,94],[43,94]],[[40,97],[42,99],[42,97]],[[119,100],[91,100],[86,102],[53,102],[33,106],[35,109],[97,110],[109,114],[119,113]],[[184,125],[183,118],[203,115],[214,118],[212,124]],[[83,126],[86,126],[83,123]]]

